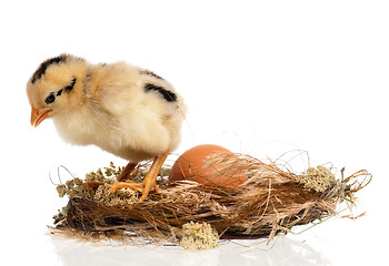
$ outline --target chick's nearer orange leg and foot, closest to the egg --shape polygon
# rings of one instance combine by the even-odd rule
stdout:
[[[142,192],[142,196],[139,198],[139,203],[142,203],[147,198],[147,196],[149,195],[152,188],[154,188],[156,192],[159,193],[159,187],[157,185],[157,176],[168,154],[169,154],[169,151],[166,151],[166,153],[163,153],[162,155],[154,157],[154,161],[152,162],[152,165],[141,184],[133,183],[133,182],[119,182],[111,186],[110,192],[114,193],[117,190],[120,190],[123,187],[140,191]]]

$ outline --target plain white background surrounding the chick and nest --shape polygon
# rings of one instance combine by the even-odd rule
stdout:
[[[389,8],[386,1],[2,1],[1,265],[366,265],[387,260]],[[189,106],[177,154],[201,143],[257,157],[369,170],[350,221],[215,250],[102,247],[50,236],[66,202],[49,173],[126,162],[30,126],[26,83],[61,52],[168,79]],[[173,161],[173,158],[170,158]],[[297,160],[299,161],[299,160]],[[298,166],[296,166],[298,168]],[[339,172],[338,172],[339,174]],[[62,173],[62,178],[67,175]],[[58,182],[58,180],[54,180]],[[6,247],[4,247],[6,246]]]

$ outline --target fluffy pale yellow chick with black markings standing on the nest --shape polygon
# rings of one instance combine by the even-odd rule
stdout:
[[[126,158],[119,181],[137,164],[153,158],[142,183],[120,182],[111,192],[130,187],[159,191],[157,175],[180,142],[186,114],[183,99],[161,76],[126,64],[91,64],[82,58],[60,54],[42,62],[27,83],[31,125],[51,117],[59,134],[71,144],[94,144]]]

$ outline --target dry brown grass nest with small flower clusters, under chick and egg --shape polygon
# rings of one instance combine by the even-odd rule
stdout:
[[[362,170],[336,180],[325,165],[309,167],[301,174],[282,170],[276,163],[265,163],[248,155],[213,156],[208,165],[221,164],[213,174],[223,171],[247,175],[235,187],[218,187],[190,181],[167,184],[169,167],[159,177],[159,194],[150,193],[138,203],[138,192],[120,190],[110,194],[121,168],[111,164],[104,171],[74,178],[58,186],[60,196],[68,195],[68,205],[54,216],[53,232],[71,233],[88,239],[120,238],[134,244],[198,243],[215,244],[221,238],[260,238],[271,241],[278,233],[289,233],[293,226],[323,221],[338,212],[342,201],[355,202],[355,193],[363,188],[371,175]],[[149,164],[138,167],[132,176],[140,182]],[[103,173],[104,172],[104,173]],[[231,178],[239,176],[231,175]],[[189,234],[197,228],[198,234]],[[205,233],[207,226],[210,233]],[[198,227],[202,229],[198,229]],[[207,227],[208,228],[208,227]],[[217,232],[217,234],[215,234]],[[208,237],[208,238],[207,238]],[[201,246],[200,245],[200,246]],[[211,246],[213,247],[213,246]]]

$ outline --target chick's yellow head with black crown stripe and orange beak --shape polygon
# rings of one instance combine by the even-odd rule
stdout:
[[[88,64],[70,54],[60,54],[42,62],[27,83],[31,105],[31,125],[44,119],[70,112],[80,106],[84,98]]]

